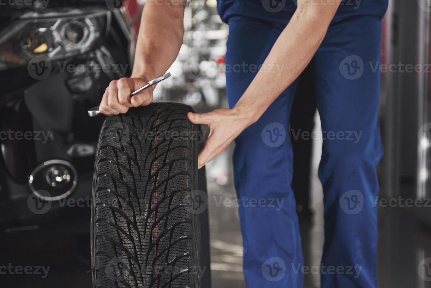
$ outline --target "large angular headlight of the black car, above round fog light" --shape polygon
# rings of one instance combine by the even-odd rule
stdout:
[[[27,65],[39,55],[58,60],[93,50],[109,21],[105,11],[24,14],[0,34],[0,70]]]

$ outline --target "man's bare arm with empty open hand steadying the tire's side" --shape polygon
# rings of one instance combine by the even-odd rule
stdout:
[[[191,122],[209,125],[210,132],[199,154],[199,168],[225,150],[301,74],[322,43],[340,0],[299,0],[263,65],[282,67],[281,73],[259,71],[233,109],[205,114],[189,113]]]

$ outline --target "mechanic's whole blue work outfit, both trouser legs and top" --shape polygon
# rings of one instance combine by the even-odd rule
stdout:
[[[219,0],[219,13],[229,25],[230,107],[253,80],[256,66],[274,75],[283,69],[276,63],[261,65],[294,13],[295,3]],[[310,85],[315,85],[322,122],[316,137],[323,138],[319,178],[324,192],[325,244],[322,264],[314,271],[321,273],[322,288],[377,287],[377,205],[373,199],[378,195],[375,166],[383,149],[378,125],[380,69],[376,67],[386,9],[387,0],[343,1],[309,63]],[[313,268],[303,267],[290,187],[293,153],[288,129],[296,87],[297,81],[235,141],[237,196],[263,199],[239,207],[248,288],[301,288],[304,273]],[[273,199],[283,200],[282,205],[269,205]]]

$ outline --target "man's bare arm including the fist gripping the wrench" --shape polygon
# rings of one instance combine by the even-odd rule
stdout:
[[[131,78],[111,81],[99,110],[108,116],[126,113],[132,106],[148,105],[154,86],[130,98],[131,92],[162,75],[178,55],[184,36],[184,3],[178,0],[148,0],[137,38]],[[185,2],[185,1],[184,1]]]

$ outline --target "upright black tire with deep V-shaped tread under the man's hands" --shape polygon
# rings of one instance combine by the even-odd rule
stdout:
[[[189,111],[152,103],[106,118],[94,165],[94,288],[210,287],[205,172]]]

